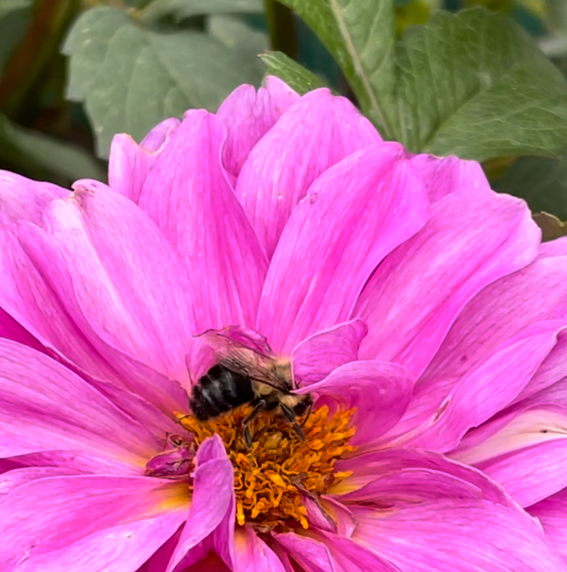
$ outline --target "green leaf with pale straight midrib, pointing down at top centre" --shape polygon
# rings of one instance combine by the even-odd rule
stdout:
[[[385,137],[395,89],[393,0],[281,0],[333,54],[363,112]]]

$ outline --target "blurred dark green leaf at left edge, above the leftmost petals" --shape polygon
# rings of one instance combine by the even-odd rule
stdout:
[[[0,114],[0,160],[18,172],[69,184],[79,178],[104,181],[99,163],[84,150],[24,129]]]

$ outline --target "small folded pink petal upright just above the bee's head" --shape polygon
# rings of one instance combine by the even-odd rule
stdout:
[[[309,336],[293,349],[294,378],[301,384],[319,382],[338,366],[354,362],[367,332],[362,320],[350,320]]]

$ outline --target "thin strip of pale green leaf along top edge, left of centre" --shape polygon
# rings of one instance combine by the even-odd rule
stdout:
[[[183,19],[203,14],[254,14],[263,10],[262,0],[154,0],[140,10],[144,21],[166,14]]]

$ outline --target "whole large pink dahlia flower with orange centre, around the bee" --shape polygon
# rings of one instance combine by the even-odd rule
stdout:
[[[478,164],[269,78],[0,200],[0,570],[567,570],[567,243]],[[304,440],[190,415],[226,338]]]

